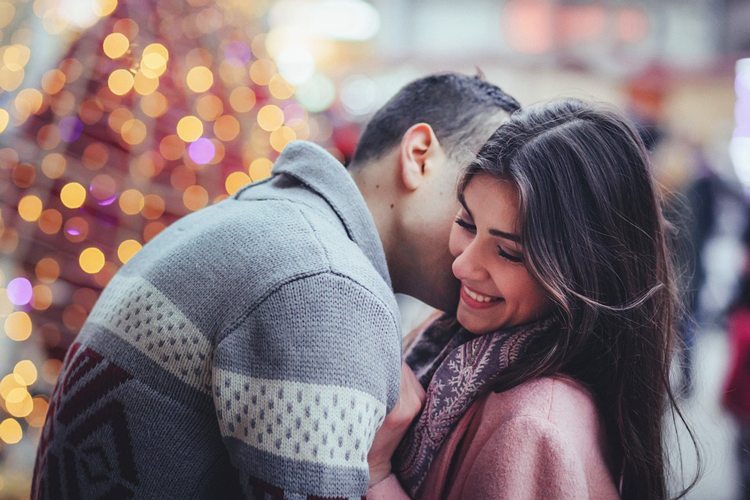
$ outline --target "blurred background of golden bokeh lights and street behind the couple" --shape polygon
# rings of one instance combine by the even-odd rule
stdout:
[[[581,97],[638,124],[692,317],[688,498],[748,498],[748,26],[747,0],[0,0],[0,499],[28,498],[65,351],[143,244],[289,141],[346,162],[403,84],[478,69],[523,105]],[[426,308],[400,304],[408,331]],[[673,434],[677,490],[696,460]]]

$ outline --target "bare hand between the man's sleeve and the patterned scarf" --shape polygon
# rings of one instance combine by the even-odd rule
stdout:
[[[370,486],[382,481],[391,473],[393,452],[396,451],[412,420],[419,415],[425,399],[424,389],[414,372],[406,363],[401,363],[401,392],[398,401],[375,434],[367,455],[370,465]]]

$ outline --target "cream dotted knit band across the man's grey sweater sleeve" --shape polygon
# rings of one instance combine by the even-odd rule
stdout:
[[[385,404],[348,387],[257,379],[217,370],[222,434],[294,460],[368,470]],[[245,421],[243,415],[257,415]],[[240,423],[244,422],[244,425]]]

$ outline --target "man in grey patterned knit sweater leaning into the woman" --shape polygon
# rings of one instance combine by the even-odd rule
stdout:
[[[270,179],[144,246],[68,352],[33,496],[364,495],[399,396],[393,292],[455,308],[455,182],[517,107],[478,77],[417,80],[351,173],[293,143]]]

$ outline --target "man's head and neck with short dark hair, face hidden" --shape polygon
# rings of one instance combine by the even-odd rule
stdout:
[[[519,108],[481,76],[441,73],[406,85],[367,124],[349,170],[378,226],[394,291],[455,310],[448,235],[456,182]]]

